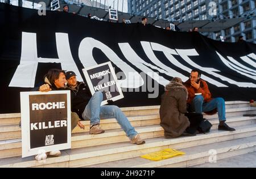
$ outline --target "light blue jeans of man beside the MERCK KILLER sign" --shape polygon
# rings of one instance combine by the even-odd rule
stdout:
[[[100,119],[115,118],[122,129],[125,131],[129,139],[133,139],[137,135],[137,131],[131,126],[130,121],[127,119],[122,110],[115,105],[101,106],[103,99],[102,92],[97,91],[93,94],[89,103],[86,105],[82,118],[90,120],[90,125],[100,123]]]

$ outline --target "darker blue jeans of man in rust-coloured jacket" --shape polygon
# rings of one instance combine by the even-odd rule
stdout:
[[[225,101],[222,97],[216,97],[209,102],[204,102],[204,97],[202,95],[197,95],[194,97],[191,107],[196,113],[209,112],[217,108],[218,120],[226,121]]]

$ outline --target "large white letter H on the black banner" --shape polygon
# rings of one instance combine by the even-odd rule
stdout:
[[[10,87],[34,87],[39,62],[61,63],[62,69],[75,71],[78,75],[77,80],[82,80],[69,48],[67,33],[56,33],[56,46],[59,58],[38,58],[36,46],[36,33],[22,32],[20,64],[11,79]]]

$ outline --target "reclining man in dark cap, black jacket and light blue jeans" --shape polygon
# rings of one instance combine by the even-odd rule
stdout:
[[[77,82],[76,74],[73,71],[67,71],[66,78],[68,88],[71,90],[71,110],[76,112],[81,119],[90,120],[89,134],[104,133],[105,131],[100,127],[100,118],[114,117],[131,140],[131,143],[145,143],[118,106],[101,106],[102,92],[97,91],[92,96],[85,83]]]

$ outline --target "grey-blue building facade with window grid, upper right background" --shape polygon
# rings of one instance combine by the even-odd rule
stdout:
[[[244,20],[234,27],[203,34],[215,40],[224,36],[228,42],[236,42],[243,36],[246,41],[256,43],[255,3],[255,0],[128,0],[128,12],[170,22],[242,17]]]

